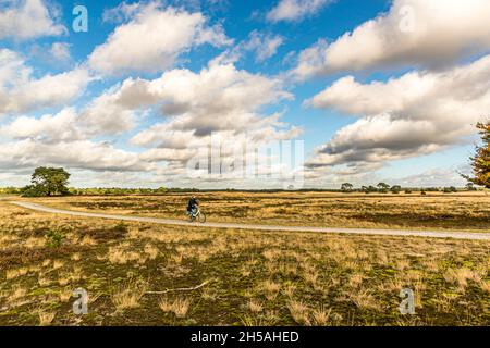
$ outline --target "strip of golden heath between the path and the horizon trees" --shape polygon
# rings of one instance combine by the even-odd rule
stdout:
[[[123,215],[185,219],[191,194],[37,198],[49,207]],[[208,221],[328,227],[490,231],[490,195],[201,192]],[[20,199],[16,199],[20,200]]]

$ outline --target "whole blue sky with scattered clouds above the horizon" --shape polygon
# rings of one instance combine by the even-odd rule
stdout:
[[[462,186],[487,0],[0,0],[0,186]],[[217,154],[218,153],[218,154]]]

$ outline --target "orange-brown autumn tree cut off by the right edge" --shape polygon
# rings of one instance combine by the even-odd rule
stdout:
[[[471,158],[473,177],[463,175],[468,182],[490,188],[490,121],[478,123],[483,145],[476,148],[476,154]]]

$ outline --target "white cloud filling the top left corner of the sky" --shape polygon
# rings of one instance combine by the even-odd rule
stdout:
[[[27,40],[66,32],[54,22],[42,0],[7,0],[0,10],[0,39]]]

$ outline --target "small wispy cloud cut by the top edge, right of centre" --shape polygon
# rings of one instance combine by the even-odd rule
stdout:
[[[298,21],[317,13],[331,2],[332,0],[280,0],[267,14],[267,18],[271,22]]]

